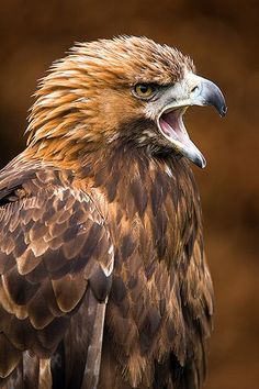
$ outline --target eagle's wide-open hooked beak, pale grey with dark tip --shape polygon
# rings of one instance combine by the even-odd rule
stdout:
[[[173,144],[173,148],[201,168],[206,160],[190,140],[182,116],[190,105],[213,105],[221,116],[226,114],[226,103],[221,89],[212,81],[188,74],[183,81],[170,88],[157,124],[161,134]]]

